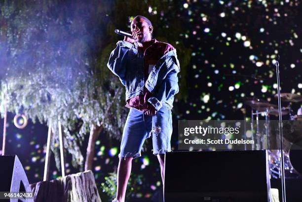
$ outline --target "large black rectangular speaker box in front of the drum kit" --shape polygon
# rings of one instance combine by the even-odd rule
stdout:
[[[266,151],[170,152],[164,202],[268,202]]]

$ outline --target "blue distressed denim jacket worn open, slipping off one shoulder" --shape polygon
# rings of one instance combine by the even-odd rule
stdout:
[[[111,52],[108,68],[126,86],[126,101],[143,95],[144,85],[152,93],[148,99],[158,111],[163,104],[172,109],[174,95],[179,92],[178,77],[180,65],[176,49],[167,52],[154,65],[144,83],[144,56],[138,51],[138,44],[119,40]]]

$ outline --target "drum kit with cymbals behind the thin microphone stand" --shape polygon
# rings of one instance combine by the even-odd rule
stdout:
[[[274,96],[278,99],[278,95]],[[282,121],[283,123],[283,154],[284,154],[284,169],[286,177],[302,176],[302,108],[300,108],[297,114],[294,114],[292,109],[293,103],[301,103],[302,95],[293,93],[280,93],[282,102],[288,102],[287,107],[281,108],[281,115],[287,116],[288,119]],[[280,140],[278,124],[271,124],[271,117],[279,116],[278,106],[271,104],[265,100],[257,98],[245,98],[245,105],[250,106],[252,109],[251,113],[251,130],[256,131],[255,145],[252,146],[252,150],[256,149],[268,149],[268,163],[270,175],[273,178],[281,177],[281,154],[280,146],[268,146],[267,145],[278,145]],[[300,106],[301,107],[301,106]],[[260,117],[263,115],[264,121],[264,132],[260,128]],[[254,126],[254,116],[256,116],[256,128]],[[254,135],[251,136],[254,139]],[[280,144],[280,143],[279,143]],[[266,145],[266,148],[265,148]],[[256,146],[256,148],[255,148]]]

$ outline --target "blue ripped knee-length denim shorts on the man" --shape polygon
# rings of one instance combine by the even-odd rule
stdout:
[[[140,157],[145,139],[151,135],[154,155],[171,151],[172,114],[168,104],[163,104],[154,116],[145,115],[135,108],[130,109],[118,157]]]

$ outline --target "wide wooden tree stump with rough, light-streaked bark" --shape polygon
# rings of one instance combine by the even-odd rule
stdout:
[[[35,202],[101,202],[91,170],[31,184]]]

